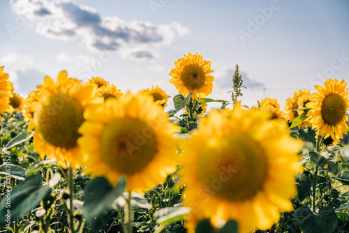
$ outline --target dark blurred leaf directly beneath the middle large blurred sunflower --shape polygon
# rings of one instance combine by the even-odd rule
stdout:
[[[84,194],[84,217],[87,222],[94,224],[94,218],[103,211],[110,211],[113,202],[124,193],[126,188],[126,178],[122,176],[117,182],[117,186],[112,188],[109,181],[103,176],[98,176],[89,183]]]

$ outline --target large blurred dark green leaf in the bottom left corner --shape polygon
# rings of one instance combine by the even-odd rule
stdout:
[[[1,216],[4,216],[10,208],[11,220],[21,218],[50,193],[51,188],[58,183],[59,178],[58,173],[54,174],[54,177],[43,187],[41,187],[42,179],[40,174],[29,176],[21,183],[18,183],[12,192],[6,193],[3,198],[0,204]],[[8,206],[8,197],[10,197],[10,207]],[[4,223],[5,221],[1,220],[0,226]]]

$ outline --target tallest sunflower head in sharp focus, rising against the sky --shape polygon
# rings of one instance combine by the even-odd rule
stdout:
[[[196,100],[205,98],[212,93],[214,77],[209,73],[214,70],[211,70],[210,61],[203,61],[202,57],[195,53],[195,55],[184,55],[184,59],[179,59],[174,62],[174,65],[176,68],[170,72],[172,76],[170,83],[176,86],[178,93],[188,96],[189,93],[193,92],[192,98]]]

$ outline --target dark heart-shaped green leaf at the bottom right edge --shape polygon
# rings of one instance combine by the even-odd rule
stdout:
[[[304,233],[332,233],[338,223],[336,212],[330,206],[323,207],[318,213],[301,206],[295,213],[295,219]]]

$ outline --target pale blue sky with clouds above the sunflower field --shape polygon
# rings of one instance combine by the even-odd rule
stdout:
[[[24,98],[61,70],[174,96],[174,61],[198,52],[214,70],[208,98],[230,100],[238,64],[243,105],[284,107],[327,78],[349,84],[348,38],[348,0],[0,0],[0,66]]]

